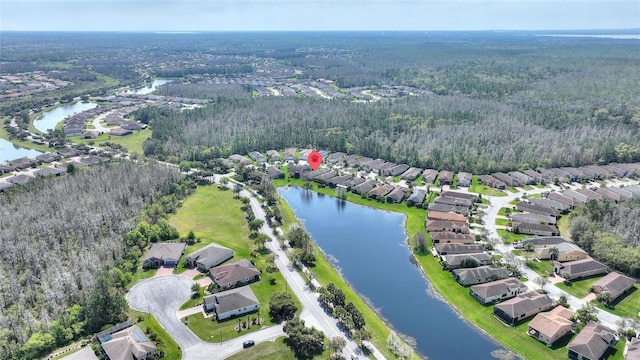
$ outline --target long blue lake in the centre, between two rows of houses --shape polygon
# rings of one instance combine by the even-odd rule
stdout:
[[[318,246],[342,276],[393,327],[415,339],[430,359],[495,359],[500,344],[463,320],[433,295],[411,262],[405,215],[341,201],[300,188],[278,193],[302,219]]]

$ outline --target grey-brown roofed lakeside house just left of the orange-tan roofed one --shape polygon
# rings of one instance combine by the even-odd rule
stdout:
[[[536,291],[520,294],[513,299],[503,301],[493,308],[493,315],[505,324],[514,326],[530,316],[553,307],[553,300]]]

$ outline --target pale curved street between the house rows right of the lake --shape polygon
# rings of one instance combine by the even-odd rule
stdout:
[[[632,185],[637,183],[638,183],[637,181],[623,182],[619,180],[614,180],[614,181],[610,181],[607,185],[620,186],[620,185]],[[598,183],[589,184],[589,187],[591,186],[600,186],[600,184]],[[574,183],[574,184],[568,185],[568,187],[573,189],[579,189],[579,188],[582,188],[582,184]],[[509,194],[507,196],[485,196],[489,201],[491,201],[491,205],[489,205],[489,207],[485,209],[485,216],[483,218],[485,227],[489,231],[489,236],[500,239],[500,236],[498,236],[498,232],[496,231],[496,216],[498,215],[498,211],[500,210],[500,208],[502,208],[504,205],[508,204],[509,202],[515,200],[518,197],[522,197],[525,193],[539,194],[542,192],[546,192],[550,190],[558,190],[558,189],[559,188],[557,186],[552,186],[551,188],[545,188],[545,189],[536,188],[533,190],[522,191],[515,194]],[[511,252],[511,250],[513,250],[513,247],[511,245],[499,242],[496,245],[495,250],[504,254],[507,252]],[[531,270],[528,266],[522,266],[520,270],[522,271],[522,274],[529,279],[526,285],[530,289],[540,288],[537,284],[533,282],[533,280],[539,276],[535,271]],[[582,299],[579,299],[569,293],[566,293],[565,291],[561,290],[560,288],[558,288],[553,284],[548,284],[547,286],[545,286],[545,290],[548,292],[549,296],[554,299],[558,299],[560,295],[565,295],[567,297],[567,302],[571,305],[571,309],[574,311],[576,309],[581,308],[582,305],[585,304],[585,302],[582,301]],[[617,315],[611,314],[610,312],[598,309],[598,319],[604,325],[609,326],[612,329],[617,329],[618,328],[617,323],[622,318]]]

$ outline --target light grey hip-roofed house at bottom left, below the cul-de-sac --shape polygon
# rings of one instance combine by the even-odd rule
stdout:
[[[156,352],[156,346],[138,325],[102,335],[98,339],[109,360],[145,360]]]

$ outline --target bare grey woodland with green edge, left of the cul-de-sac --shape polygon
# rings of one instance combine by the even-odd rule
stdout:
[[[177,237],[161,215],[183,187],[175,169],[123,161],[3,194],[0,358],[35,358],[122,321],[122,288],[154,240],[141,232]]]

